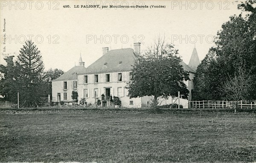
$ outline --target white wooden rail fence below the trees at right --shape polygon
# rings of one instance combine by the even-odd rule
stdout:
[[[256,101],[189,101],[189,108],[231,109],[234,106],[237,109],[255,109]]]

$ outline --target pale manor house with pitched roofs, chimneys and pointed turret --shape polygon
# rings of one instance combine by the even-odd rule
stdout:
[[[134,43],[134,49],[124,48],[109,51],[102,48],[102,57],[88,67],[84,67],[81,55],[79,66],[75,66],[52,81],[52,101],[64,101],[66,104],[74,104],[71,98],[72,91],[77,91],[79,100],[86,98],[88,104],[96,105],[101,101],[102,107],[110,105],[111,96],[118,96],[122,101],[122,107],[148,107],[151,96],[129,98],[126,83],[132,80],[131,69],[134,61],[140,55],[140,43]],[[180,62],[189,72],[189,81],[184,81],[189,89],[189,100],[193,89],[193,78],[196,67],[200,61],[194,48],[189,65]],[[102,96],[104,95],[104,96]],[[160,104],[171,104],[176,98],[161,99]],[[188,100],[180,99],[183,107],[188,107]]]

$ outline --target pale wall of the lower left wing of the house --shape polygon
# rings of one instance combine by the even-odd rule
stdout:
[[[66,103],[73,101],[71,98],[72,91],[77,91],[77,89],[74,89],[73,87],[74,81],[77,82],[77,80],[52,81],[52,101],[64,101]],[[64,89],[64,82],[67,82],[67,89]],[[58,93],[61,95],[60,101],[58,101]],[[64,93],[67,93],[67,100],[64,100]]]

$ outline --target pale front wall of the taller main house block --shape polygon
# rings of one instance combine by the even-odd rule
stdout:
[[[118,73],[122,73],[122,82],[118,81]],[[110,75],[110,81],[106,81],[106,74]],[[100,99],[101,95],[106,96],[105,88],[110,88],[110,94],[118,96],[122,101],[122,107],[141,107],[141,98],[129,98],[128,90],[125,88],[126,82],[129,81],[129,72],[110,72],[110,73],[98,73],[98,83],[94,82],[94,75],[87,74],[87,83],[84,81],[84,74],[78,75],[78,95],[79,100],[81,98],[87,98],[87,103],[95,104]],[[87,89],[87,96],[84,95],[84,90]],[[98,89],[98,96],[95,97],[95,89]],[[120,90],[119,90],[120,89]],[[119,93],[118,93],[119,90]]]

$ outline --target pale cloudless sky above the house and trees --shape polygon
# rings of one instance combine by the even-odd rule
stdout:
[[[103,47],[133,48],[134,42],[141,42],[143,51],[159,36],[175,45],[186,64],[194,47],[202,60],[214,46],[213,38],[221,25],[230,16],[241,13],[237,2],[228,0],[0,0],[0,3],[0,64],[5,64],[5,56],[17,56],[24,41],[31,39],[41,51],[45,70],[64,71],[79,65],[80,54],[88,67],[102,56]]]

